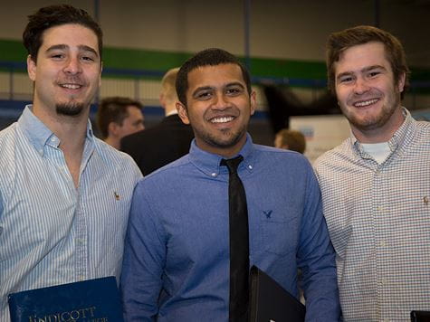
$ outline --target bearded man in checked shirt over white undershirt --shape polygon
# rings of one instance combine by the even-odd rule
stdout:
[[[332,33],[330,89],[351,135],[316,161],[345,321],[430,310],[430,124],[401,105],[401,43],[370,26]]]

